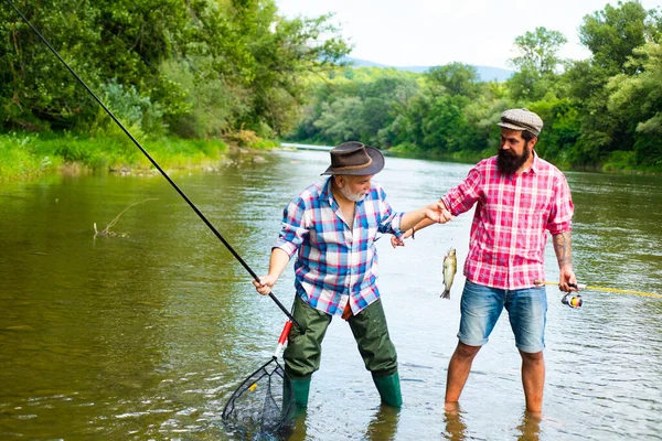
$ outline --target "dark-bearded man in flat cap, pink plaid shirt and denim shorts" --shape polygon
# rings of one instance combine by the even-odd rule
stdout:
[[[448,366],[446,407],[457,407],[473,358],[488,343],[505,308],[522,356],[526,409],[537,415],[545,383],[547,298],[545,289],[534,281],[545,280],[549,232],[560,270],[559,289],[576,290],[570,258],[574,207],[563,173],[535,153],[543,120],[527,109],[510,109],[501,115],[499,126],[498,155],[479,162],[441,198],[452,215],[476,205],[465,262],[459,342]],[[428,225],[423,220],[403,237]],[[403,245],[399,238],[392,243]]]

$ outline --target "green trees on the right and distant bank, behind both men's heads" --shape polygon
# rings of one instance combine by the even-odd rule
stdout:
[[[345,68],[317,82],[292,140],[381,148],[441,158],[494,153],[500,114],[525,107],[545,129],[538,153],[564,166],[662,170],[662,15],[638,1],[607,4],[584,18],[588,60],[564,61],[567,42],[537,28],[514,41],[515,73],[482,82],[451,63],[425,74]]]

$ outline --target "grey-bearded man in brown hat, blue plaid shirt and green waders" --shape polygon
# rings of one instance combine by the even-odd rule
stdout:
[[[296,254],[293,316],[306,333],[292,327],[284,354],[285,369],[298,407],[308,405],[312,374],[319,369],[321,343],[334,315],[352,330],[365,368],[386,405],[402,405],[397,355],[377,288],[377,234],[401,236],[427,218],[447,222],[441,203],[396,213],[373,176],[384,155],[361,142],[331,150],[330,178],[310,185],[285,208],[282,229],[271,249],[269,272],[254,282],[268,294]],[[351,373],[348,373],[351,375]]]

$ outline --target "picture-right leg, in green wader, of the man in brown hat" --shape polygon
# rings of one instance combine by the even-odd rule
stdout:
[[[382,301],[377,300],[348,320],[365,368],[371,372],[382,402],[401,407],[397,353],[388,336]]]

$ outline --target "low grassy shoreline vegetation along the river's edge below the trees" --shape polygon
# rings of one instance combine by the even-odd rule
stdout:
[[[253,142],[238,143],[223,140],[190,140],[162,138],[159,140],[141,142],[141,146],[167,172],[203,171],[215,172],[223,166],[235,164],[243,155],[252,154],[252,161],[264,160],[258,158],[260,151],[275,148],[292,148],[289,144],[308,144],[328,147],[319,142],[284,142],[253,139]],[[296,147],[295,147],[296,148]],[[459,152],[453,154],[433,154],[408,149],[393,148],[384,151],[388,155],[402,158],[427,159],[434,161],[448,161],[459,163],[476,163],[493,153],[491,151]],[[662,170],[637,169],[577,169],[564,170],[632,173],[632,174],[662,174]],[[82,135],[47,133],[8,133],[0,135],[0,183],[15,181],[31,181],[46,175],[81,175],[94,173],[115,173],[119,175],[153,175],[158,174],[156,168],[142,152],[127,138],[126,140],[113,137],[90,137]]]

